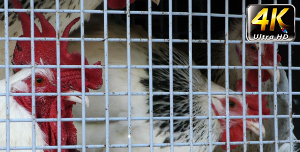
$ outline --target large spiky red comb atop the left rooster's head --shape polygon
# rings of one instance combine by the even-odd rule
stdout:
[[[13,6],[16,9],[22,9],[22,5],[18,0],[12,0]],[[31,22],[30,17],[26,13],[20,13],[19,18],[22,24],[23,35],[20,37],[31,37]],[[42,32],[38,29],[37,25],[34,26],[35,37],[56,37],[56,31],[54,27],[48,22],[48,20],[41,13],[35,13],[36,17],[39,18],[42,26]],[[71,27],[79,21],[79,17],[75,18],[69,23],[64,30],[62,37],[69,37]],[[68,41],[60,42],[60,57],[61,65],[81,65],[81,54],[74,52],[69,54]],[[45,65],[56,65],[56,42],[55,41],[35,41],[35,62],[42,64],[40,59],[43,60]],[[89,65],[87,59],[84,59],[85,65]],[[31,64],[31,41],[17,41],[14,50],[12,63],[16,65]],[[94,65],[101,65],[98,61]],[[13,69],[14,72],[18,72],[21,69]],[[64,69],[62,69],[64,70]],[[100,89],[102,80],[102,69],[85,69],[86,87],[90,89]]]

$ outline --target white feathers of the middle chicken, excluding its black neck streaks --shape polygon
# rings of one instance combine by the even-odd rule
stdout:
[[[100,19],[101,20],[101,19]],[[109,21],[110,23],[111,21]],[[101,22],[97,23],[102,25]],[[126,28],[122,25],[116,25],[111,23],[108,25],[109,29],[114,29],[109,32],[109,37],[126,37]],[[146,32],[139,26],[131,26],[133,30],[131,30],[132,38],[145,38],[147,37]],[[78,33],[71,35],[72,37],[79,36]],[[102,37],[103,29],[89,32],[85,34],[85,37]],[[127,45],[126,42],[109,42],[108,43],[108,65],[127,65]],[[163,50],[162,52],[158,51],[161,48],[168,48],[167,44],[164,43],[153,43],[153,51],[156,52],[157,56],[161,58],[153,58],[155,60],[164,60],[164,54],[162,52],[167,50]],[[104,65],[104,42],[85,42],[85,57],[91,61],[95,62],[98,60],[102,61]],[[68,46],[69,52],[77,51],[80,52],[80,42],[69,42]],[[131,43],[131,65],[148,65],[148,43]],[[87,52],[93,52],[87,53]],[[173,50],[174,54],[179,55],[173,56],[173,64],[174,65],[188,65],[188,58],[185,55],[178,53],[176,49]],[[165,69],[169,70],[169,69]],[[155,72],[155,71],[154,71]],[[161,79],[168,78],[168,72],[161,72]],[[183,77],[181,79],[188,80],[188,75],[186,73],[182,74]],[[103,70],[103,80],[105,80],[105,70]],[[109,92],[127,92],[128,90],[128,79],[127,79],[127,69],[109,69],[108,70],[108,78],[109,78]],[[131,69],[131,91],[132,92],[148,92],[147,88],[145,88],[141,84],[142,79],[148,78],[148,73],[144,69]],[[174,80],[178,81],[178,80]],[[198,69],[193,70],[193,83],[194,89],[193,91],[207,91],[207,79],[203,77]],[[187,87],[187,86],[182,86]],[[103,87],[99,90],[100,92],[105,92],[105,83]],[[212,83],[212,91],[225,91],[224,88]],[[231,90],[230,90],[231,91]],[[160,88],[155,88],[154,92],[162,92]],[[232,95],[242,101],[242,96],[240,95]],[[213,95],[212,103],[219,105],[220,98],[224,98],[224,95]],[[89,96],[91,99],[91,106],[85,109],[86,117],[105,117],[105,96]],[[128,97],[127,96],[109,96],[109,117],[128,117]],[[157,102],[157,101],[156,101]],[[185,102],[188,103],[189,99],[186,98]],[[198,103],[197,106],[193,108],[198,112],[196,116],[208,116],[208,102],[207,96],[195,96],[193,102]],[[82,106],[75,105],[73,107],[73,116],[76,118],[81,118],[81,108]],[[131,116],[132,117],[149,117],[147,113],[149,109],[148,105],[148,96],[131,96]],[[184,109],[182,109],[184,110]],[[212,110],[213,111],[213,110]],[[175,115],[175,113],[174,113]],[[215,112],[212,112],[212,115],[215,116]],[[188,113],[186,116],[189,116]],[[157,122],[157,121],[154,121]],[[163,122],[163,121],[161,121]],[[75,127],[77,128],[78,135],[78,144],[81,144],[82,138],[82,124],[81,122],[74,122]],[[105,123],[100,122],[87,122],[86,124],[86,144],[106,144],[105,143]],[[175,125],[175,124],[174,124]],[[220,121],[213,120],[212,121],[213,131],[212,131],[212,139],[213,142],[217,142],[220,139],[220,136],[223,132]],[[149,122],[148,121],[132,121],[132,143],[149,143]],[[187,126],[188,128],[188,126]],[[195,120],[195,131],[194,131],[194,142],[208,142],[208,120]],[[168,129],[165,127],[164,129]],[[164,129],[159,127],[154,127],[154,143],[164,143],[166,137],[170,136],[169,132],[162,132]],[[203,134],[201,134],[203,132]],[[128,122],[127,121],[118,121],[118,122],[110,122],[109,123],[109,144],[128,144]],[[174,137],[178,137],[178,140],[175,143],[187,142],[187,138],[189,138],[189,130],[185,132],[174,132]],[[200,135],[201,134],[201,135]],[[199,137],[199,138],[198,138]],[[207,138],[206,138],[207,137]],[[213,146],[215,148],[215,146]],[[181,146],[174,147],[174,151],[188,151],[190,149],[189,146]],[[103,151],[105,149],[86,149],[87,151]],[[132,148],[134,152],[137,151],[149,151],[149,147],[140,147],[140,148]],[[154,151],[169,151],[170,147],[155,147]],[[194,146],[194,151],[207,151],[208,146]],[[110,151],[128,151],[128,148],[110,148]]]

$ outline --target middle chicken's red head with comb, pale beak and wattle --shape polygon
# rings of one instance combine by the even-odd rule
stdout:
[[[239,80],[236,83],[237,91],[242,91],[242,80]],[[257,87],[252,87],[249,82],[246,82],[246,91],[255,92],[258,91]],[[265,95],[262,95],[262,115],[269,115],[270,109],[266,108],[267,101],[264,100]],[[241,99],[236,99],[234,97],[229,97],[229,113],[230,116],[243,116],[243,104],[239,102]],[[213,104],[213,109],[216,112],[217,116],[226,116],[225,108],[226,107],[226,100],[225,98],[221,99],[222,106],[217,106]],[[248,116],[258,116],[258,95],[246,95],[246,115]],[[224,128],[224,131],[221,136],[220,142],[226,142],[226,121],[223,119],[220,119],[222,128]],[[255,134],[259,135],[259,123],[258,119],[248,119],[246,121],[247,130],[251,130]],[[262,126],[262,133],[264,136],[265,129]],[[230,141],[243,141],[243,120],[242,119],[230,119],[229,122],[229,135],[230,135]],[[235,148],[238,145],[230,145],[230,149]],[[221,145],[221,147],[226,150],[226,145]]]

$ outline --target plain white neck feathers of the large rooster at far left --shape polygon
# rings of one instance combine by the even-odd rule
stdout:
[[[44,70],[39,69],[40,72]],[[23,80],[31,76],[31,69],[22,69],[9,78],[10,92],[24,91],[30,92]],[[6,93],[6,80],[0,81],[0,92]],[[9,119],[32,119],[32,115],[23,106],[19,105],[14,97],[9,97]],[[6,97],[0,97],[0,119],[6,119]],[[32,122],[11,122],[10,124],[10,146],[32,146]],[[36,146],[45,146],[45,135],[39,125],[36,128]],[[6,146],[6,123],[0,123],[0,146]],[[32,150],[14,150],[14,151],[32,151]],[[43,150],[37,150],[42,152]]]

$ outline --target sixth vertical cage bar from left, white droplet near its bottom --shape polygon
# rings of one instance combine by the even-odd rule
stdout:
[[[127,78],[128,78],[128,151],[132,151],[131,147],[131,57],[130,57],[130,1],[127,0],[126,7],[126,25],[127,25]]]

